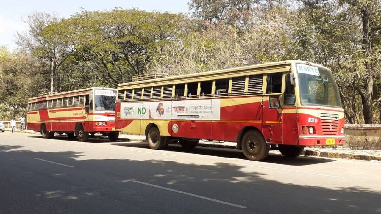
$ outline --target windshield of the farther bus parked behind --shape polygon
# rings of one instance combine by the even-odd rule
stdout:
[[[94,107],[95,110],[115,111],[115,91],[95,90]]]

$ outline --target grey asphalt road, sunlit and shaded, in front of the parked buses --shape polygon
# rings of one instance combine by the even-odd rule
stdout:
[[[0,214],[381,213],[381,164],[0,133]]]

